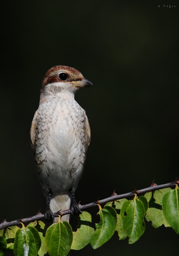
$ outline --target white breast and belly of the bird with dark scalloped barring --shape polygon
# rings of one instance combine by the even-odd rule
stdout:
[[[76,189],[86,158],[86,113],[74,99],[65,96],[44,102],[36,116],[35,163],[46,196],[49,187],[53,194],[73,186]]]

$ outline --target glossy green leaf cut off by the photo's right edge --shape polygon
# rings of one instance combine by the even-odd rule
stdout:
[[[163,213],[170,224],[175,230],[176,234],[179,234],[179,189],[175,188],[168,191],[162,200]]]

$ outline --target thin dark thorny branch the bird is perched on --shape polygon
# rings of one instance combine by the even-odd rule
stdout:
[[[80,205],[79,208],[80,208],[81,211],[83,211],[84,209],[94,207],[97,204],[106,204],[106,203],[111,202],[111,201],[116,201],[116,200],[119,200],[119,199],[122,199],[122,198],[127,198],[127,197],[130,197],[130,196],[134,196],[135,194],[137,194],[137,196],[139,196],[141,194],[151,192],[151,191],[155,191],[155,190],[159,190],[159,189],[162,189],[162,188],[174,187],[174,186],[176,186],[176,184],[177,185],[179,184],[179,180],[175,180],[174,182],[170,182],[170,183],[163,184],[163,185],[152,184],[151,187],[149,187],[149,188],[134,190],[133,192],[129,192],[129,193],[122,194],[122,195],[110,196],[110,197],[107,197],[105,199],[102,199],[102,200],[99,200],[99,201],[96,201],[96,202],[93,202],[93,203],[90,203],[90,204]],[[58,215],[63,216],[63,215],[70,214],[70,213],[71,213],[71,210],[69,209],[69,210],[62,211],[62,212],[56,212],[53,215],[54,215],[54,217],[58,217]],[[19,220],[13,220],[13,221],[9,221],[9,222],[4,220],[0,224],[0,229],[7,228],[7,227],[10,227],[10,226],[20,225],[21,223],[33,222],[35,220],[42,220],[42,219],[44,219],[44,214],[37,214],[37,215],[32,216],[32,217],[28,217],[28,218],[25,218],[25,219],[19,219]]]

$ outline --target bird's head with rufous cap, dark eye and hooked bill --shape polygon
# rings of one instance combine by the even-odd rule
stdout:
[[[55,66],[45,74],[41,94],[43,97],[61,92],[74,94],[80,87],[91,85],[91,82],[84,78],[77,69],[67,66]]]

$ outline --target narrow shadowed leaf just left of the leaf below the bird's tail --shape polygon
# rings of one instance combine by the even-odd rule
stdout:
[[[45,245],[45,234],[47,231],[47,226],[45,225],[45,223],[43,223],[43,221],[39,220],[35,228],[37,229],[39,236],[41,238],[41,247],[38,251],[38,255],[43,256],[47,253],[47,248]]]

